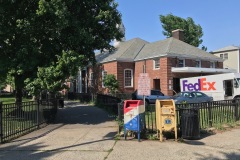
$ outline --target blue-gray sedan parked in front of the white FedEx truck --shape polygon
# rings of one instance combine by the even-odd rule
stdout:
[[[184,91],[172,97],[175,104],[211,102],[213,97],[199,91]]]

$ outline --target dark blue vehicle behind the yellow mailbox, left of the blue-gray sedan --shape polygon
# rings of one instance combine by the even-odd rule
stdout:
[[[165,96],[160,90],[151,90],[149,96],[145,96],[147,104],[155,104],[157,99],[170,99],[171,96]],[[133,100],[143,100],[143,95],[138,95],[137,90],[132,93]]]

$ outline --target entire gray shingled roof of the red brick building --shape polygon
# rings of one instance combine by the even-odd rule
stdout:
[[[162,56],[223,61],[222,58],[172,37],[153,43],[134,38],[121,42],[113,53],[105,51],[96,54],[96,60],[98,63],[116,60],[139,61]]]

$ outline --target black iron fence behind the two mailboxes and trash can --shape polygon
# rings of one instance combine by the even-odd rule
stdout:
[[[118,121],[119,130],[123,127],[124,113],[123,103],[118,104]],[[199,126],[201,129],[211,127],[220,127],[223,124],[234,123],[240,119],[240,101],[223,100],[208,103],[194,103],[194,104],[177,104],[176,117],[177,126],[181,127],[181,116],[189,111],[198,110]],[[145,109],[145,123],[149,132],[155,132],[156,127],[156,112],[155,105],[148,105]]]

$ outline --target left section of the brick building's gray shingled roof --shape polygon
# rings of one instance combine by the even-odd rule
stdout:
[[[137,54],[145,44],[149,42],[140,38],[134,38],[129,41],[121,42],[113,53],[107,51],[96,54],[96,60],[99,63],[105,63],[115,60],[134,61]]]

